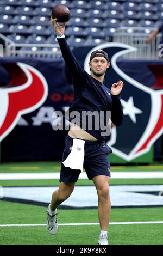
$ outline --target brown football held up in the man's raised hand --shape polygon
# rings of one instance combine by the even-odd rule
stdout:
[[[70,10],[65,5],[56,5],[52,9],[52,18],[57,22],[67,22],[70,19]]]

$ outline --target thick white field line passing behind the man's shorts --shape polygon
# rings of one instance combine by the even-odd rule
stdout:
[[[60,173],[0,173],[0,180],[48,180],[59,179]],[[111,172],[111,179],[160,179],[163,172]],[[79,179],[87,179],[81,173]]]

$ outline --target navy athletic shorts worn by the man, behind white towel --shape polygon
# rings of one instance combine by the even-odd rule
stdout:
[[[73,145],[73,138],[69,135],[65,138],[65,149],[62,155],[60,182],[76,182],[80,170],[65,167],[62,162],[70,154]],[[110,177],[110,162],[108,154],[112,152],[108,145],[99,141],[85,141],[84,145],[84,169],[89,180],[94,176],[105,175]]]

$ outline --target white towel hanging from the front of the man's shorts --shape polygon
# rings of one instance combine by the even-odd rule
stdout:
[[[85,141],[83,139],[73,139],[71,153],[63,162],[65,167],[81,170],[81,172],[83,173],[84,144]]]

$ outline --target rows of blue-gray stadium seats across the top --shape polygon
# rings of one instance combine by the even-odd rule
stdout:
[[[163,0],[0,0],[0,33],[14,41],[53,42],[49,18],[57,4],[70,8],[65,33],[73,46],[111,40],[121,26],[148,29],[163,21]]]

